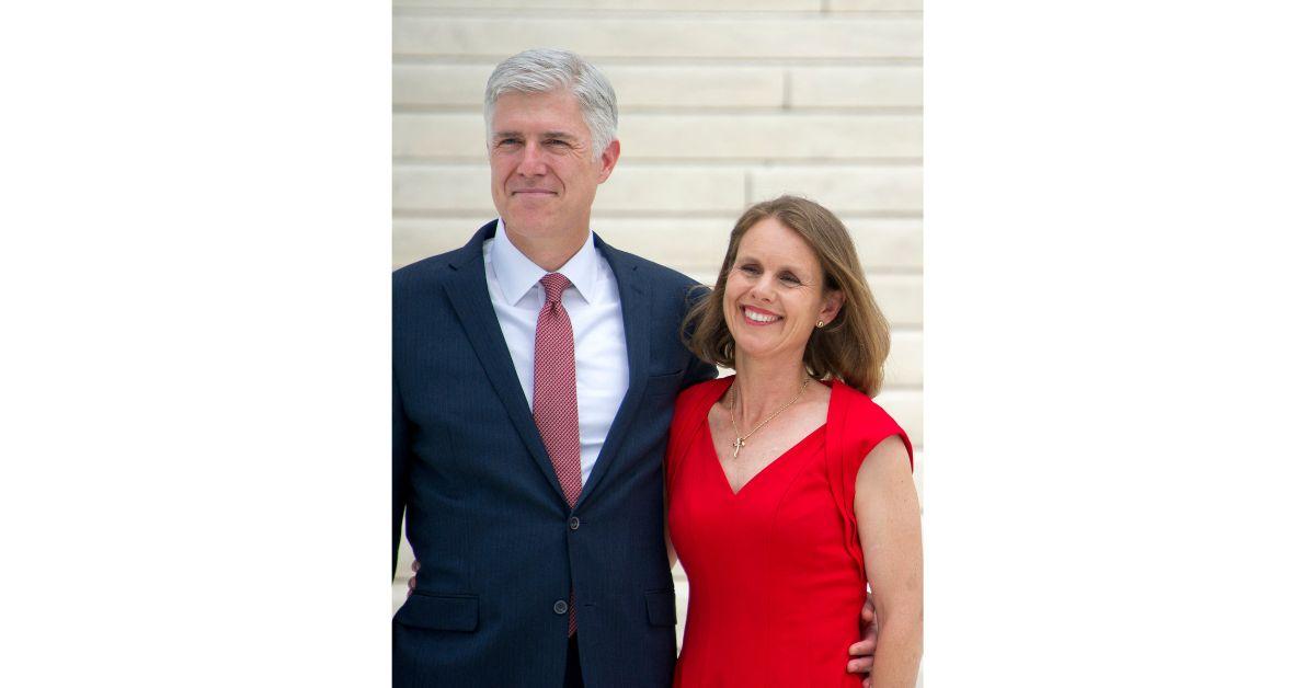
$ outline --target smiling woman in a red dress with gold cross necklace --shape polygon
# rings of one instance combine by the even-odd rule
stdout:
[[[676,403],[671,545],[689,575],[676,685],[859,685],[846,649],[872,589],[873,687],[911,687],[922,545],[907,435],[871,396],[889,329],[844,225],[792,196],[735,224],[686,343],[735,375]]]

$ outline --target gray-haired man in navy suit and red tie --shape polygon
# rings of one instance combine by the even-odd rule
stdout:
[[[590,232],[621,153],[592,64],[512,57],[484,114],[500,218],[393,282],[393,568],[404,512],[423,562],[393,683],[665,688],[663,454],[715,376],[680,342],[694,283]]]

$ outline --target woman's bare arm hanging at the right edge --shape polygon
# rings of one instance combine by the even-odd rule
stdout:
[[[888,437],[863,460],[853,510],[877,612],[871,685],[913,688],[922,662],[922,525],[899,437]]]

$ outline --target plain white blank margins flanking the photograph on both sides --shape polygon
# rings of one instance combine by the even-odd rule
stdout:
[[[926,684],[1310,685],[1311,17],[978,5],[926,14]],[[0,683],[387,684],[387,9],[5,14]]]

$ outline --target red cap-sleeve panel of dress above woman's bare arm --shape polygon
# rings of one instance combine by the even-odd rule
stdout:
[[[867,395],[839,380],[828,384],[831,409],[826,420],[827,483],[835,505],[844,517],[844,546],[867,579],[863,547],[859,543],[859,520],[853,512],[859,467],[882,439],[899,435],[909,451],[909,468],[913,470],[913,442],[899,424]]]

